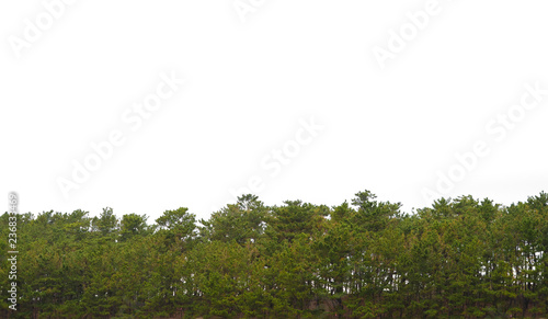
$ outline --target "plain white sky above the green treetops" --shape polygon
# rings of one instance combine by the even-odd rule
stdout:
[[[502,140],[486,130],[525,83],[548,89],[546,1],[439,0],[384,68],[375,48],[427,1],[252,3],[243,21],[232,0],[75,1],[18,50],[25,20],[48,11],[1,1],[3,210],[15,191],[21,213],[109,206],[152,221],[184,206],[207,218],[259,175],[267,205],[339,205],[370,190],[411,212],[478,140],[489,155],[442,195],[507,205],[548,190],[548,95]],[[128,129],[122,114],[172,71],[186,84]],[[311,118],[324,128],[272,176],[261,160]],[[125,144],[64,197],[57,180],[113,129]]]

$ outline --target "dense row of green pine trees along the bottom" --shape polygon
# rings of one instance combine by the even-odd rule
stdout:
[[[1,318],[546,318],[548,194],[401,212],[358,192],[329,207],[243,195],[187,208],[18,215],[18,310]]]

